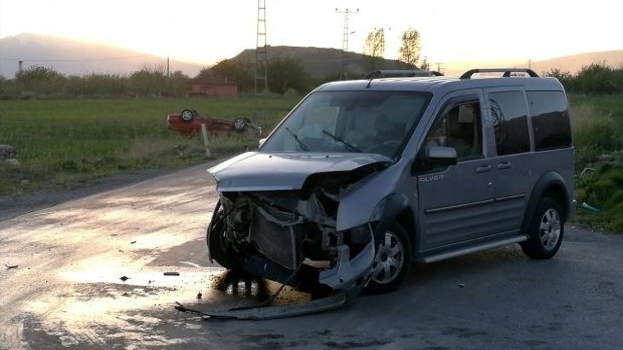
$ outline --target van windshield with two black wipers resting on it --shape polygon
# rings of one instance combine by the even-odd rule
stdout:
[[[268,152],[364,152],[394,158],[411,136],[430,94],[315,92],[265,141]]]

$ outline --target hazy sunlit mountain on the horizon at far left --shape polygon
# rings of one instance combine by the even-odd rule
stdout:
[[[17,61],[24,69],[32,65],[51,67],[68,75],[84,73],[123,73],[143,65],[166,65],[166,58],[143,52],[49,35],[22,33],[0,39],[0,75],[13,77]],[[171,60],[171,71],[196,75],[201,65]]]

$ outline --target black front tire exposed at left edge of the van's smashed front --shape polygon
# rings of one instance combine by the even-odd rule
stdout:
[[[219,201],[214,207],[214,215],[212,215],[212,220],[207,227],[206,243],[210,257],[228,270],[242,271],[242,259],[235,255],[223,237],[224,224],[225,219],[222,216],[221,202]]]

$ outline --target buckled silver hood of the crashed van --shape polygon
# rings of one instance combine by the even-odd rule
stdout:
[[[221,192],[301,189],[316,173],[352,171],[375,163],[392,163],[376,153],[261,153],[247,152],[207,171]]]

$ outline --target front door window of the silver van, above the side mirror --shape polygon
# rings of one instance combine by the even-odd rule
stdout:
[[[452,147],[459,161],[482,158],[480,103],[462,103],[447,110],[435,121],[424,145],[427,152],[435,146]]]

